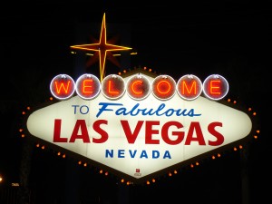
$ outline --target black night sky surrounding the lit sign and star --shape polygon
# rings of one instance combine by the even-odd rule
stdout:
[[[271,6],[227,0],[113,2],[49,0],[3,6],[0,175],[5,184],[20,180],[25,145],[18,131],[24,125],[21,112],[48,101],[56,74],[76,79],[81,73],[98,73],[97,64],[81,66],[70,46],[99,39],[105,13],[108,39],[118,37],[118,45],[138,53],[118,58],[121,67],[107,61],[106,73],[144,66],[175,79],[192,73],[204,80],[218,73],[228,80],[227,98],[257,112],[261,133],[244,151],[229,150],[218,160],[204,160],[198,168],[184,168],[151,186],[119,185],[114,176],[105,179],[95,170],[73,165],[73,160],[60,160],[53,151],[33,148],[30,183],[36,197],[45,197],[44,203],[53,203],[53,198],[55,203],[73,203],[81,195],[83,203],[248,204],[242,201],[247,175],[250,204],[269,199]]]

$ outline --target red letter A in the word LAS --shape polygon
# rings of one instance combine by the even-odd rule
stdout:
[[[81,135],[77,134],[80,129],[82,131]],[[90,138],[89,138],[85,120],[77,120],[74,125],[73,133],[71,135],[69,142],[74,142],[76,139],[83,139],[84,143],[90,143]]]

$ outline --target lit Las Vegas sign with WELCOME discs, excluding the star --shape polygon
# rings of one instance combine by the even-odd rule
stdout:
[[[83,74],[74,83],[61,74],[50,89],[60,101],[28,116],[29,133],[134,183],[243,140],[252,130],[247,113],[219,102],[228,92],[219,75],[204,83],[185,75],[175,83],[170,76],[132,73],[100,83]]]

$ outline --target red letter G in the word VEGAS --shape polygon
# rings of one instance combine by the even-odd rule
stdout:
[[[179,121],[166,122],[161,129],[162,140],[171,145],[180,144],[184,139],[184,131],[172,131],[172,135],[176,135],[177,139],[175,141],[171,141],[168,134],[170,126],[176,126],[178,129],[183,128],[183,125]]]

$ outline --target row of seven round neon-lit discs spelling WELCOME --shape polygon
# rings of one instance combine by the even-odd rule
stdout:
[[[201,92],[211,100],[220,100],[228,93],[228,82],[219,74],[209,75],[201,83],[199,78],[192,74],[180,77],[178,83],[169,75],[159,75],[152,82],[142,74],[132,75],[127,82],[119,75],[106,76],[102,83],[92,74],[85,73],[76,83],[67,74],[59,74],[50,83],[50,91],[59,100],[66,100],[76,92],[84,100],[91,100],[100,92],[110,99],[122,97],[124,92],[133,100],[143,100],[152,92],[159,100],[169,100],[176,92],[185,100],[195,100]]]

